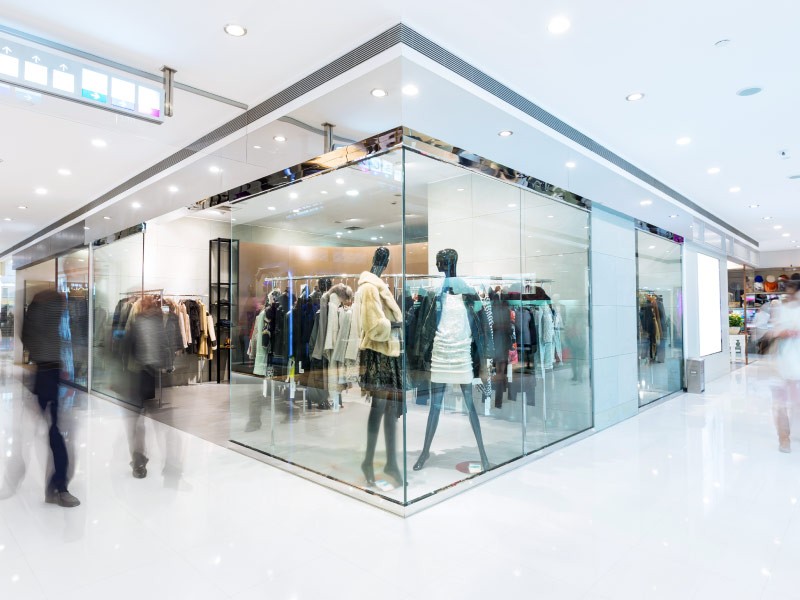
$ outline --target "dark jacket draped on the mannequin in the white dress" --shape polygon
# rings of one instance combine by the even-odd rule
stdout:
[[[459,291],[456,289],[456,291]],[[494,358],[494,345],[489,332],[489,321],[480,297],[474,292],[463,294],[467,309],[470,333],[472,334],[472,373],[485,379],[486,360]],[[429,292],[417,311],[414,337],[409,342],[408,361],[412,369],[430,371],[433,339],[442,316],[440,292]]]

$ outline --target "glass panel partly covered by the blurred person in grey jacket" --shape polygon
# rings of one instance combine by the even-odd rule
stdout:
[[[143,291],[143,238],[141,233],[131,235],[92,253],[92,390],[137,407],[142,406],[137,391],[141,380],[130,368],[128,324],[132,304]]]

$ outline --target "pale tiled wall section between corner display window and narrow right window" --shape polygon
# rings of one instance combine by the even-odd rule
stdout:
[[[636,231],[633,220],[592,208],[594,424],[605,429],[639,412]]]

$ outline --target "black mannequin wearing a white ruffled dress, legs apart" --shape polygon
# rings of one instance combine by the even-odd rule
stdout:
[[[414,463],[414,470],[419,471],[425,466],[425,462],[428,460],[430,456],[430,449],[431,443],[433,442],[433,436],[436,434],[436,428],[439,425],[439,415],[442,411],[442,399],[444,398],[444,390],[447,383],[458,383],[461,385],[461,392],[464,395],[464,402],[467,405],[467,411],[469,413],[469,422],[472,426],[472,432],[475,435],[475,441],[478,444],[478,452],[480,453],[481,457],[481,465],[483,466],[484,471],[488,471],[490,468],[489,459],[486,456],[486,450],[483,447],[483,436],[481,435],[481,424],[478,420],[478,413],[475,410],[475,403],[472,400],[472,378],[474,376],[473,372],[473,365],[475,364],[474,355],[470,356],[469,358],[469,371],[466,372],[464,370],[464,350],[465,348],[471,348],[472,346],[484,346],[488,343],[488,338],[484,337],[483,340],[474,340],[475,335],[475,319],[473,317],[473,321],[470,321],[470,313],[469,311],[472,310],[471,306],[473,302],[470,302],[470,296],[474,295],[475,299],[478,298],[477,294],[474,293],[474,290],[467,288],[463,282],[460,282],[456,279],[456,267],[458,264],[458,252],[453,250],[452,248],[446,248],[444,250],[440,250],[436,254],[436,269],[444,273],[445,280],[444,284],[442,285],[442,291],[440,294],[437,295],[435,299],[435,304],[429,303],[431,306],[429,313],[432,312],[433,314],[429,314],[427,319],[435,319],[434,325],[436,327],[436,333],[434,334],[434,339],[432,343],[432,349],[428,350],[431,352],[432,359],[431,359],[431,406],[430,412],[428,412],[428,425],[425,430],[425,442],[422,447],[422,453],[419,455],[417,462]],[[464,293],[466,292],[466,294]],[[470,293],[471,292],[471,293]],[[461,294],[461,298],[456,300],[456,297]],[[450,296],[448,298],[447,296]],[[464,307],[466,308],[467,315],[466,317],[462,317],[463,309],[461,309],[461,299],[463,298]],[[436,305],[441,306],[442,308],[435,308]],[[439,312],[440,311],[440,312]],[[447,323],[444,323],[443,317],[447,314]],[[474,314],[474,313],[473,313]],[[485,320],[485,315],[481,315]],[[453,319],[456,319],[455,321]],[[466,320],[469,325],[464,323]],[[467,333],[464,331],[465,335],[471,335],[472,337],[467,339],[461,340],[447,340],[444,341],[446,338],[452,337],[452,333],[445,331],[444,329],[448,329],[450,332],[453,330],[453,326],[460,326],[462,329],[466,329],[469,327],[469,331],[471,333]],[[438,338],[438,340],[437,340]],[[476,341],[477,344],[473,344],[473,341]],[[444,344],[447,344],[446,346]],[[468,350],[468,352],[472,352],[472,350]],[[491,353],[487,353],[484,349],[482,352],[484,355],[491,356]],[[479,355],[481,352],[478,353]],[[458,364],[453,368],[457,371],[449,372],[447,370],[448,364],[447,361],[449,360],[456,360]],[[480,360],[480,359],[479,359]],[[437,364],[438,362],[438,364]]]

